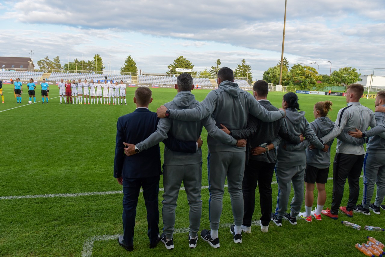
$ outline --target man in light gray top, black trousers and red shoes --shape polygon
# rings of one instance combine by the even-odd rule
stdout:
[[[376,126],[376,119],[373,111],[360,104],[363,94],[363,86],[361,84],[351,84],[346,89],[345,108],[340,109],[337,114],[336,124],[340,126],[346,133],[349,131],[366,131],[368,127]],[[329,133],[330,134],[330,133]],[[328,134],[328,135],[329,135]],[[324,142],[330,141],[335,135],[328,135],[321,138]],[[333,200],[331,209],[323,210],[321,213],[327,217],[337,219],[338,209],[349,217],[353,217],[353,209],[355,209],[358,194],[360,192],[360,175],[364,162],[365,150],[362,144],[350,144],[341,141],[337,137],[336,155],[333,161]],[[340,206],[343,189],[346,183],[349,183],[349,200],[346,207]]]

